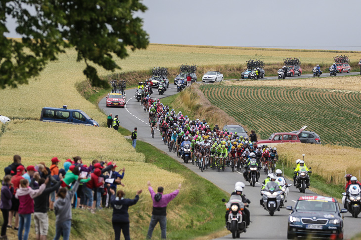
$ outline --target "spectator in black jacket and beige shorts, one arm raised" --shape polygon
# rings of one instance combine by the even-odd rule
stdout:
[[[39,180],[39,185],[42,185],[43,183],[45,183],[45,179],[41,178]],[[36,240],[46,240],[47,230],[49,227],[49,219],[47,216],[49,194],[55,193],[55,191],[60,187],[60,183],[61,181],[58,181],[52,187],[45,188],[42,194],[34,198],[34,223]]]

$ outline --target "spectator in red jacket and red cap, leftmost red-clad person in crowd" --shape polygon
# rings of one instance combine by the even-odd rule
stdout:
[[[15,155],[16,156],[16,155]],[[24,179],[24,177],[22,177],[22,175],[24,175],[25,173],[25,168],[22,165],[19,165],[16,168],[16,175],[11,177],[11,183],[14,187],[14,192],[12,195],[12,199],[11,199],[11,209],[9,212],[9,224],[8,227],[11,228],[12,225],[12,217],[15,215],[15,226],[14,229],[18,230],[19,229],[19,214],[18,214],[18,210],[19,210],[19,199],[15,198],[15,193],[17,191],[17,189],[20,186],[20,180]]]

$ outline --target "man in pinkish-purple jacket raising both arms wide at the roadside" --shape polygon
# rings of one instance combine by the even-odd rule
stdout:
[[[180,189],[181,184],[179,184],[178,189],[173,193],[163,195],[163,187],[158,187],[158,193],[155,194],[153,188],[150,186],[150,181],[148,181],[148,190],[153,200],[153,211],[149,223],[147,239],[152,238],[153,230],[158,222],[162,231],[162,239],[167,239],[167,205],[177,197]]]

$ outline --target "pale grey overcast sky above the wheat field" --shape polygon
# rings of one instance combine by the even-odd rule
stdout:
[[[360,1],[143,0],[151,43],[361,51]],[[19,37],[16,23],[8,37]]]

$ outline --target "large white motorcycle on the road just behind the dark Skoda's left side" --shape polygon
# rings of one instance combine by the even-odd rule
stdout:
[[[281,193],[279,185],[276,182],[268,182],[266,187],[261,190],[263,206],[273,216],[275,211],[279,211],[281,205]]]

